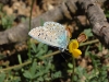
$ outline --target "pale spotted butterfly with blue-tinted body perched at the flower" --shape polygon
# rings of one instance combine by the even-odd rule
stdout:
[[[31,30],[28,35],[38,42],[59,47],[62,50],[66,49],[70,42],[65,26],[56,22],[45,22],[44,26]]]

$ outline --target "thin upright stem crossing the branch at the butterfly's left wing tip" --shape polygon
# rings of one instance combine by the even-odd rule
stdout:
[[[32,5],[31,5],[31,14],[29,14],[29,28],[28,28],[28,31],[31,31],[31,26],[32,26],[32,11],[33,11],[33,7],[34,7],[34,0],[32,0]],[[27,42],[27,44],[28,44],[28,58],[31,59],[31,40],[29,40],[29,36],[28,36],[28,42]]]

